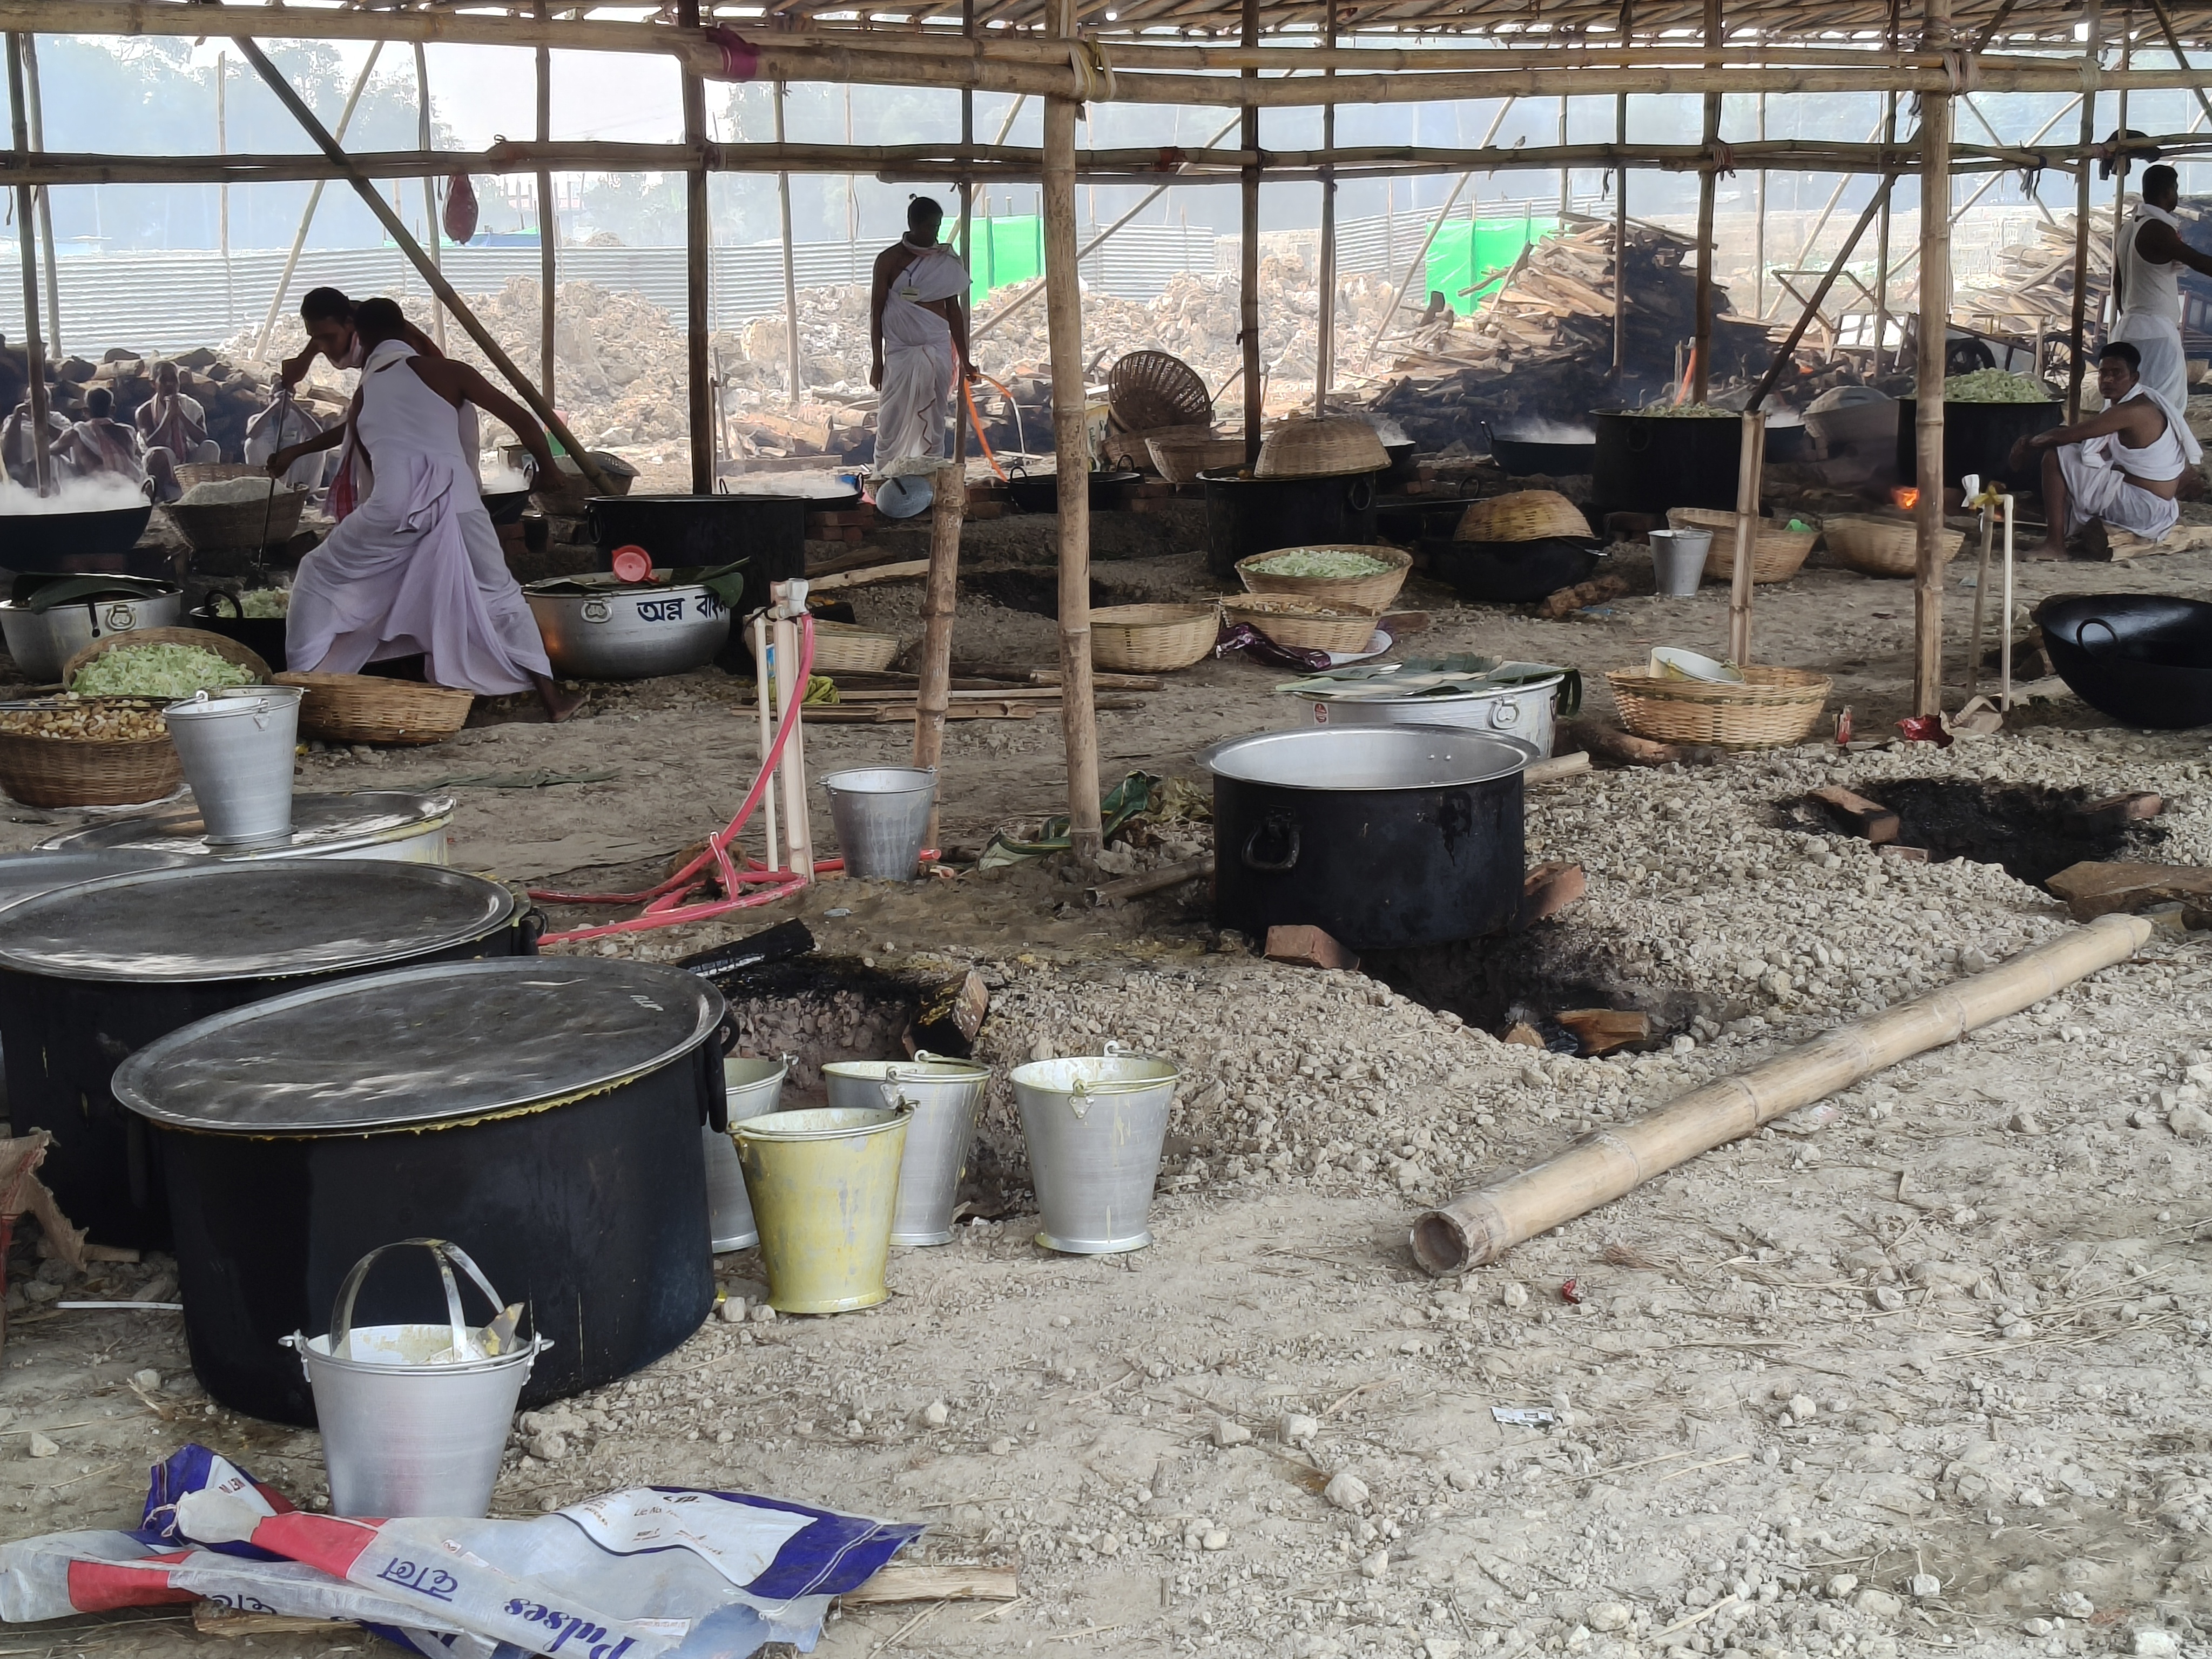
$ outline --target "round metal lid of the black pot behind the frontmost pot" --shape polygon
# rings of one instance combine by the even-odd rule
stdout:
[[[0,969],[204,984],[334,973],[451,949],[515,914],[495,880],[389,858],[199,860],[0,909]]]

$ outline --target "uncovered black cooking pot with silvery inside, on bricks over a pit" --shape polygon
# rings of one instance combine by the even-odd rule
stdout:
[[[1214,916],[1312,925],[1356,951],[1504,927],[1522,898],[1517,743],[1440,726],[1232,737],[1214,774]]]

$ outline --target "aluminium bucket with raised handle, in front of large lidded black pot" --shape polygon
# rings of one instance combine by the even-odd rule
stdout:
[[[445,1325],[354,1325],[354,1294],[387,1250],[422,1245],[445,1285]],[[460,1312],[460,1267],[491,1303],[493,1327]],[[491,1509],[515,1398],[544,1336],[493,1336],[500,1294],[469,1254],[442,1239],[378,1245],[345,1276],[327,1336],[288,1336],[307,1367],[323,1431],[332,1515],[478,1517]]]

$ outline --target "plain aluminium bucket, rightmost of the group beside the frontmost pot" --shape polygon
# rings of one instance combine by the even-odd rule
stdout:
[[[1172,1060],[1106,1044],[1104,1055],[1033,1060],[1013,1071],[1037,1243],[1077,1256],[1144,1250],[1146,1217],[1181,1071]]]

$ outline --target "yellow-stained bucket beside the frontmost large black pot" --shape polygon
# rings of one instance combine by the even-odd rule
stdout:
[[[761,1230],[768,1305],[779,1314],[843,1314],[891,1294],[883,1267],[907,1119],[872,1106],[814,1106],[730,1124]]]

